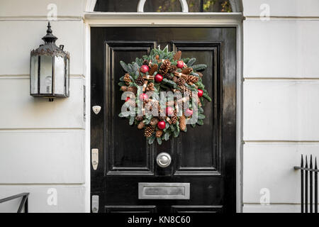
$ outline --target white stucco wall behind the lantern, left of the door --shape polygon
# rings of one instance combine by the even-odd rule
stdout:
[[[30,50],[43,43],[49,4],[57,45],[71,54],[70,97],[29,95]],[[30,192],[30,212],[85,212],[85,0],[0,1],[0,198]],[[51,192],[57,204],[47,203]],[[0,204],[16,212],[18,200]]]

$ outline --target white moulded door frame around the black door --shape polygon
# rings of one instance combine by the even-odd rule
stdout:
[[[86,79],[86,212],[91,211],[91,27],[235,27],[236,77],[236,211],[242,212],[242,13],[84,13],[84,65]]]

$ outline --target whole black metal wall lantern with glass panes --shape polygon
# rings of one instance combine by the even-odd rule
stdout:
[[[57,47],[57,37],[52,34],[50,21],[44,45],[31,51],[30,57],[30,95],[49,98],[69,96],[69,53],[64,46]]]

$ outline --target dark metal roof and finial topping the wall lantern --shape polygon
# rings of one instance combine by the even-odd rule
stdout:
[[[47,34],[43,36],[42,40],[45,42],[44,45],[40,45],[38,49],[31,51],[31,56],[35,55],[46,55],[46,56],[57,56],[69,58],[69,53],[63,51],[63,45],[60,48],[55,44],[57,37],[52,34],[50,21],[47,23]]]

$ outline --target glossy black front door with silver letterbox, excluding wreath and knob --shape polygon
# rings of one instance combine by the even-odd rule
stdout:
[[[148,145],[142,131],[119,118],[118,87],[132,62],[152,48],[181,50],[208,65],[203,72],[213,101],[204,106],[203,126]],[[91,195],[99,212],[235,212],[236,28],[91,28]],[[159,167],[159,153],[172,157]]]

